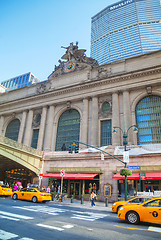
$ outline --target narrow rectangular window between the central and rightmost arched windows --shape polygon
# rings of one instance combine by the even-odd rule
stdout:
[[[101,121],[101,146],[112,145],[111,120]]]

